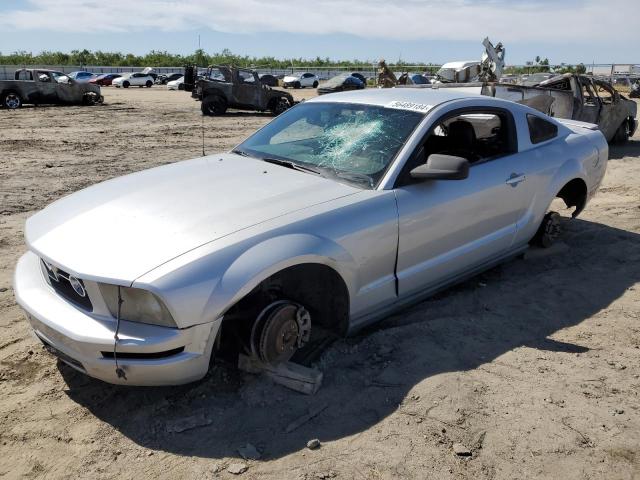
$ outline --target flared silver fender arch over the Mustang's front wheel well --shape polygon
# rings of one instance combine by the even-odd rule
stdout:
[[[289,234],[252,246],[224,272],[203,312],[217,318],[250,293],[262,281],[285,268],[304,263],[326,265],[344,280],[350,298],[358,284],[353,257],[332,240],[311,234]]]

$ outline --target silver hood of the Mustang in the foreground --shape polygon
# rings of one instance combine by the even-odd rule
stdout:
[[[25,238],[69,273],[126,285],[205,243],[358,191],[260,160],[213,155],[64,197],[27,220]]]

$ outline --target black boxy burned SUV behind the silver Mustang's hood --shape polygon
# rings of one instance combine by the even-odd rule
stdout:
[[[256,71],[226,66],[209,67],[191,96],[202,102],[203,115],[222,115],[228,108],[279,115],[294,104],[289,93],[260,82]]]

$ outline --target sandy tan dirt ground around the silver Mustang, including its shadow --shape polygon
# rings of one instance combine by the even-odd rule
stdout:
[[[202,122],[214,153],[270,117],[203,119],[184,92],[104,90],[104,106],[0,111],[1,478],[235,478],[239,462],[255,479],[640,478],[639,134],[611,149],[563,243],[335,343],[316,396],[227,367],[125,388],[58,364],[31,336],[12,289],[24,220],[201,155]],[[259,459],[240,457],[247,444]]]

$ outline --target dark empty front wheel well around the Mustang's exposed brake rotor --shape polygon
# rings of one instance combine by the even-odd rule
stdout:
[[[224,314],[216,345],[218,353],[227,358],[235,357],[249,338],[260,312],[281,299],[300,303],[309,311],[312,332],[320,327],[332,336],[347,333],[350,303],[344,280],[331,267],[305,263],[285,268],[263,280]],[[233,342],[233,339],[237,341]]]

